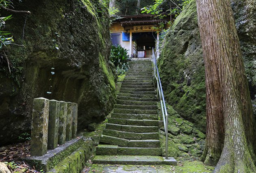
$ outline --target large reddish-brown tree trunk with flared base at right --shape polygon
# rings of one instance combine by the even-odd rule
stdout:
[[[206,163],[218,160],[224,129],[214,172],[256,172],[256,124],[230,0],[197,0],[197,17],[207,91],[203,159]]]

